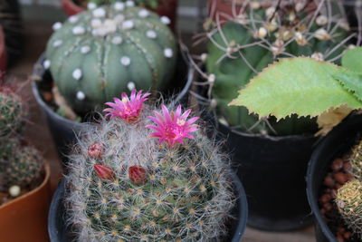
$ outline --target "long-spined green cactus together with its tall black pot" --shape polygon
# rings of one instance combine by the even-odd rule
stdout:
[[[280,58],[311,56],[340,63],[357,35],[349,33],[338,1],[258,3],[243,1],[232,20],[205,23],[207,53],[199,58],[205,67],[199,71],[206,81],[195,82],[192,93],[209,107],[219,131],[228,137],[233,163],[251,197],[249,225],[288,230],[311,220],[304,175],[317,140],[316,119],[296,115],[282,121],[272,116],[260,119],[245,107],[228,103],[253,76]],[[275,177],[273,188],[278,192],[270,189]]]

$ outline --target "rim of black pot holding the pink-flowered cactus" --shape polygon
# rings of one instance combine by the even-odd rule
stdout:
[[[245,190],[243,189],[243,184],[241,180],[237,177],[237,175],[232,172],[231,178],[233,179],[233,185],[234,185],[234,193],[239,199],[238,207],[239,207],[239,213],[237,214],[238,217],[238,225],[235,228],[235,233],[233,234],[233,239],[231,242],[240,242],[241,238],[243,237],[243,234],[245,232],[247,220],[248,220],[248,203],[246,199]],[[54,242],[61,242],[58,238],[58,231],[54,229],[57,225],[57,208],[62,202],[62,198],[64,197],[64,189],[65,189],[65,179],[62,179],[59,184],[58,188],[54,192],[54,195],[52,196],[52,203],[49,208],[49,214],[48,214],[48,234],[49,237],[51,237],[51,241]],[[55,240],[52,240],[52,238],[55,238]]]

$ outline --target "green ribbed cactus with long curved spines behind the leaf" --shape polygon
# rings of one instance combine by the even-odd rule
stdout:
[[[354,35],[348,35],[348,22],[338,1],[244,2],[239,15],[214,24],[207,33],[210,41],[204,60],[217,114],[242,131],[277,135],[316,131],[316,121],[306,117],[259,121],[246,108],[228,103],[255,74],[280,58],[311,56],[339,63]]]

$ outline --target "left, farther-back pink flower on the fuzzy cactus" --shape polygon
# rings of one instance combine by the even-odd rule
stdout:
[[[106,102],[106,105],[109,105],[110,108],[103,111],[108,112],[107,116],[110,118],[121,118],[124,121],[129,123],[135,123],[139,119],[139,114],[144,108],[143,102],[148,100],[148,96],[151,93],[145,93],[142,95],[142,90],[137,92],[135,89],[130,93],[130,97],[127,96],[126,92],[122,92],[122,100],[118,98],[113,98],[114,102]]]

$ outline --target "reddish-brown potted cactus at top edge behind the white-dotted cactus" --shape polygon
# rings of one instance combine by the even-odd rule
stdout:
[[[170,19],[171,29],[175,30],[177,0],[62,0],[62,8],[67,15],[77,15],[88,8],[95,8],[97,5],[112,4],[115,2],[126,5],[138,5],[146,7],[160,16]]]

